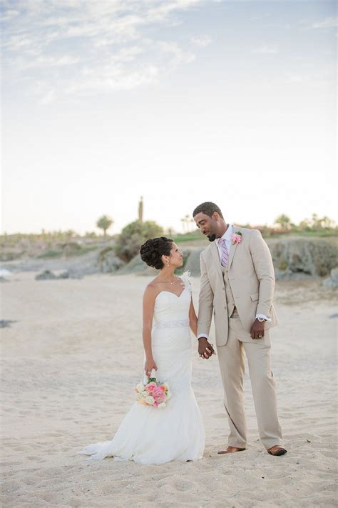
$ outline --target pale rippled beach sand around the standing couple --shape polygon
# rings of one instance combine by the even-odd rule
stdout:
[[[272,365],[288,454],[271,457],[262,448],[246,377],[248,449],[217,455],[228,432],[217,359],[194,351],[204,458],[139,466],[86,461],[76,452],[113,437],[133,404],[149,278],[37,282],[34,275],[19,273],[1,286],[1,319],[15,321],[1,331],[4,507],[337,506],[332,289],[316,281],[277,285]],[[198,279],[193,284],[197,302]]]

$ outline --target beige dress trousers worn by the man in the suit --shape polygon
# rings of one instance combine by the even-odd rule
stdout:
[[[250,339],[244,332],[237,312],[229,319],[229,335],[225,346],[217,347],[218,362],[224,387],[224,405],[230,426],[228,444],[245,448],[247,424],[243,404],[244,351],[249,364],[252,395],[260,439],[266,449],[281,444],[282,429],[278,422],[275,379],[270,363],[270,337]]]

